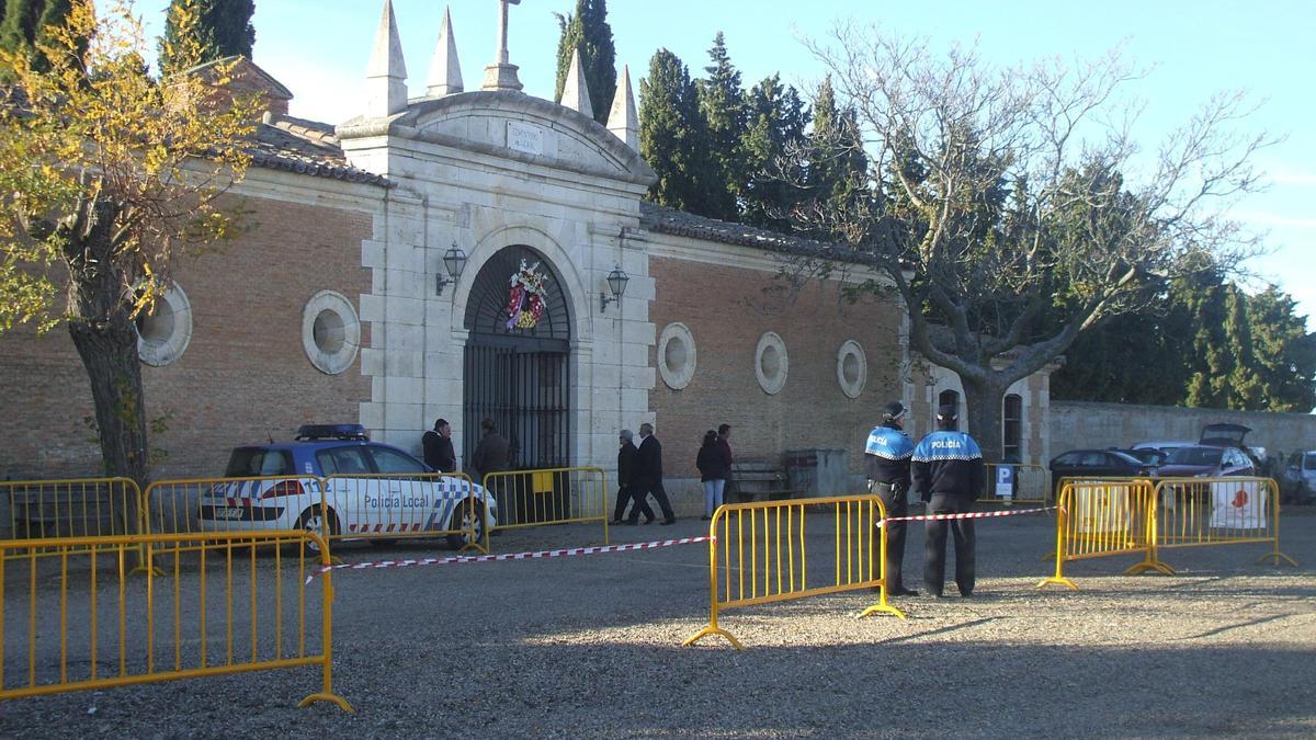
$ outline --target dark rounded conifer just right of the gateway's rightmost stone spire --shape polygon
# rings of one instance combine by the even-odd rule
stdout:
[[[699,93],[675,54],[659,49],[640,80],[640,154],[658,182],[650,198],[661,205],[712,215],[707,207],[713,169],[708,128],[699,113]]]

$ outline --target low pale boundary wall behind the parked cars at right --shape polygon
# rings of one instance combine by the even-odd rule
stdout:
[[[1316,449],[1316,415],[1221,411],[1177,406],[1133,406],[1051,399],[1051,456],[1079,448],[1132,446],[1141,441],[1196,441],[1207,424],[1252,428],[1248,445],[1266,454]]]

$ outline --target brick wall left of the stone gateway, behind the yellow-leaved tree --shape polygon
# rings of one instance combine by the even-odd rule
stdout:
[[[358,304],[370,291],[361,242],[370,215],[250,199],[257,228],[175,262],[192,307],[192,340],[175,362],[142,366],[147,419],[167,416],[151,445],[168,453],[157,477],[217,475],[232,446],[291,438],[299,424],[357,421],[370,379],[357,361],[340,375],[311,365],[301,312],[317,291]],[[358,307],[359,308],[359,307]],[[368,325],[362,344],[368,344]],[[64,328],[0,334],[0,478],[93,475],[100,470],[86,373]]]

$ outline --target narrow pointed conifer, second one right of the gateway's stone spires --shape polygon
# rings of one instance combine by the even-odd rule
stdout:
[[[713,175],[709,183],[708,215],[724,221],[740,219],[738,196],[744,192],[745,153],[741,136],[745,132],[745,90],[740,71],[726,53],[722,32],[713,37],[708,50],[712,65],[704,67],[708,79],[695,83],[699,91],[699,112],[708,125],[709,154]]]

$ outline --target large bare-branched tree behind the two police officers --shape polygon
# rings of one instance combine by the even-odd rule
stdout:
[[[1141,153],[1126,95],[1140,74],[1116,53],[995,68],[975,47],[937,54],[854,25],[808,46],[858,121],[875,195],[795,216],[848,242],[829,257],[879,266],[890,284],[869,288],[898,294],[911,348],[959,375],[990,457],[1011,383],[1203,257],[1233,266],[1255,250],[1227,211],[1255,188],[1249,161],[1271,140],[1232,130],[1250,112],[1241,95]],[[1057,307],[1063,321],[1044,330]]]

